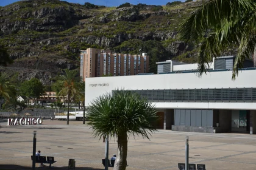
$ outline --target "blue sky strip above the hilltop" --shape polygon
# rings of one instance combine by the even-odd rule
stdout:
[[[4,7],[5,5],[12,4],[13,2],[17,2],[20,0],[0,0],[0,6]],[[167,2],[172,1],[182,1],[185,0],[65,0],[71,3],[79,3],[84,4],[85,2],[90,2],[95,5],[105,5],[107,7],[116,7],[121,4],[124,4],[125,2],[129,2],[131,4],[148,4],[148,5],[165,5]]]

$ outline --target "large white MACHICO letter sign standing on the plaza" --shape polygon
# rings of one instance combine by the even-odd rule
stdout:
[[[43,119],[41,118],[9,118],[8,125],[15,126],[15,125],[35,125],[35,124],[42,124]]]

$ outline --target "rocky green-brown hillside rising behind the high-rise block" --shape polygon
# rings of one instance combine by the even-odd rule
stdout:
[[[176,30],[200,4],[91,9],[59,0],[29,0],[0,7],[0,45],[14,60],[0,71],[18,82],[36,77],[50,85],[62,69],[79,70],[79,51],[88,47],[147,52],[151,72],[156,61],[194,62],[197,46],[178,39]]]

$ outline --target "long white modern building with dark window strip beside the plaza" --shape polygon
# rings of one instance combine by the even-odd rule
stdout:
[[[202,77],[193,69],[197,68],[194,64],[166,61],[157,63],[157,75],[88,78],[85,106],[99,95],[127,89],[155,104],[157,114],[162,115],[157,128],[256,134],[256,69],[252,61],[245,61],[233,81],[233,61],[233,56],[216,58]]]

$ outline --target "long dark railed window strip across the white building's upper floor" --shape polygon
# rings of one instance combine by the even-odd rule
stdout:
[[[131,90],[153,102],[256,102],[256,88]],[[115,90],[113,90],[115,92]]]

